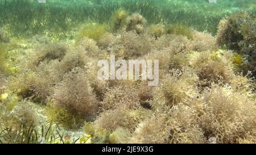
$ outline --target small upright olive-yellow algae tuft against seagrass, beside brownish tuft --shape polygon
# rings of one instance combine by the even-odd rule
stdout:
[[[117,32],[122,30],[125,27],[127,16],[126,10],[119,9],[115,11],[112,17],[112,31]]]

